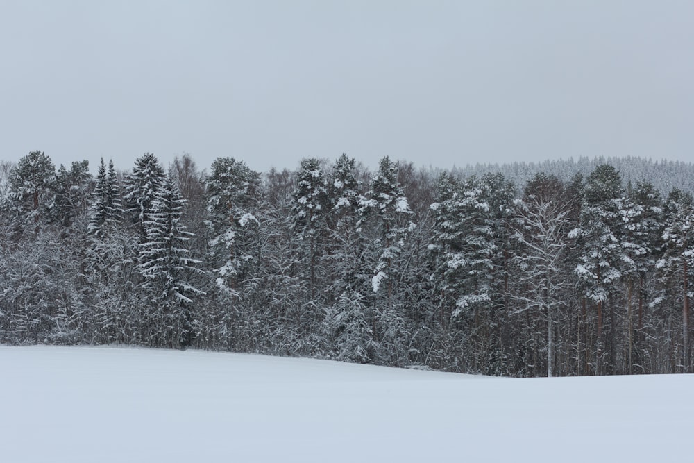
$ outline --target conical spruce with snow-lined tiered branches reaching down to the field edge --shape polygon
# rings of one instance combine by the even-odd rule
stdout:
[[[192,297],[203,294],[188,283],[200,262],[189,258],[186,242],[191,233],[181,223],[183,197],[176,180],[167,177],[145,212],[146,241],[140,245],[138,269],[150,296],[151,344],[171,348],[192,342]]]

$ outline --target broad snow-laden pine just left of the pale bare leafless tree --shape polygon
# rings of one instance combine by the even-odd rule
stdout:
[[[441,310],[463,332],[468,369],[499,374],[505,369],[503,354],[491,333],[498,323],[493,312],[499,245],[485,190],[476,177],[463,183],[446,176],[439,179],[439,196],[431,206],[435,221],[430,249],[437,256],[433,280],[443,298]]]

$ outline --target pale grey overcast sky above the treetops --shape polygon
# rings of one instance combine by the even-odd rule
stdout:
[[[0,159],[694,160],[694,2],[0,0]]]

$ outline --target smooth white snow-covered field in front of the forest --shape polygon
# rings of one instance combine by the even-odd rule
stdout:
[[[0,461],[688,461],[693,391],[694,376],[507,379],[0,346]]]

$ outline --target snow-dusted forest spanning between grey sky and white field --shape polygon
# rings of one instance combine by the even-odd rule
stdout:
[[[689,372],[694,165],[0,162],[0,342]]]

